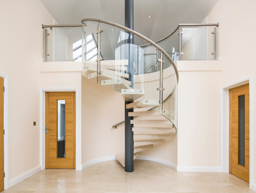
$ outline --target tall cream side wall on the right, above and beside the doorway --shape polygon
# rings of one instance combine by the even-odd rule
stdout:
[[[255,67],[255,44],[256,38],[256,1],[254,0],[219,0],[208,14],[208,23],[219,22],[217,28],[217,57],[222,59],[221,85],[225,85],[239,78],[253,75],[254,89],[250,90],[255,95],[256,67]],[[249,29],[249,31],[247,30]],[[244,54],[242,54],[244,53]],[[252,100],[252,99],[251,99]],[[253,113],[256,115],[256,102]],[[256,123],[256,116],[253,120]],[[254,124],[254,130],[255,130]],[[253,136],[254,150],[256,149],[256,132]],[[254,151],[255,152],[255,151]],[[254,153],[254,167],[256,154]],[[251,164],[250,164],[251,165]],[[256,169],[254,168],[253,183],[256,183]]]

